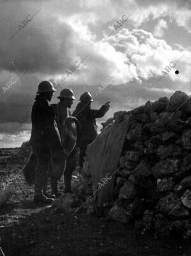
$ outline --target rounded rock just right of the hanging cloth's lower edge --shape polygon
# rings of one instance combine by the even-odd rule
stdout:
[[[132,184],[130,181],[126,181],[124,183],[124,186],[120,188],[119,198],[135,199],[137,194],[138,194],[138,191],[136,189],[136,186]]]

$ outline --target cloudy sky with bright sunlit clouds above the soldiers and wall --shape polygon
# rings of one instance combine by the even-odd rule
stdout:
[[[90,91],[95,109],[111,102],[99,122],[190,94],[190,9],[189,0],[0,0],[0,147],[29,139],[41,80],[55,84],[53,103],[65,87],[77,100]]]

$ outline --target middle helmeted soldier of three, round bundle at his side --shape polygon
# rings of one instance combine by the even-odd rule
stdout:
[[[57,105],[57,116],[59,121],[59,130],[60,134],[62,134],[62,125],[65,121],[66,117],[71,116],[70,108],[73,104],[75,97],[74,93],[71,89],[62,89],[60,92],[60,96],[58,96],[60,102]],[[67,145],[66,145],[67,147]],[[66,158],[66,169],[64,170],[64,193],[72,193],[71,191],[71,179],[73,171],[76,169],[76,147],[74,147],[73,151]]]

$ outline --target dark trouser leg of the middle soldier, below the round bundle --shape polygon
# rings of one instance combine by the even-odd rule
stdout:
[[[71,180],[73,171],[76,169],[76,149],[73,150],[66,159],[66,168],[64,170],[64,192],[71,192]]]

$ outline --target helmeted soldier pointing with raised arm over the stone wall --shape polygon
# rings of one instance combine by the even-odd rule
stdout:
[[[103,117],[108,112],[110,102],[105,103],[101,109],[91,109],[91,103],[93,102],[92,95],[88,92],[81,94],[80,103],[76,106],[73,112],[73,116],[78,119],[81,124],[81,135],[78,140],[77,146],[80,147],[80,159],[79,159],[79,173],[81,174],[81,168],[83,166],[83,157],[88,144],[97,136],[97,124],[95,118]]]

